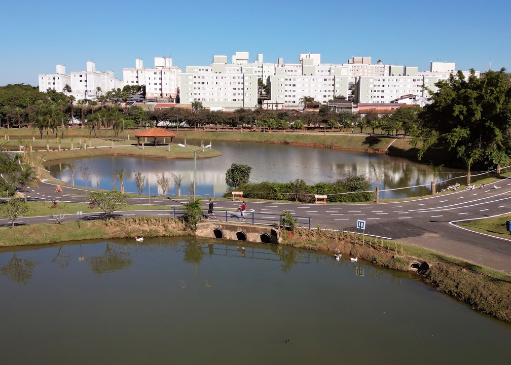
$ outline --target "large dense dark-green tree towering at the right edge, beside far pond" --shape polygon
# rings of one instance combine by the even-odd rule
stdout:
[[[468,79],[458,71],[435,86],[438,91],[420,113],[420,130],[412,140],[422,143],[419,159],[431,146],[445,146],[470,173],[475,163],[494,163],[496,154],[510,155],[511,85],[505,69],[481,78],[471,69]]]

